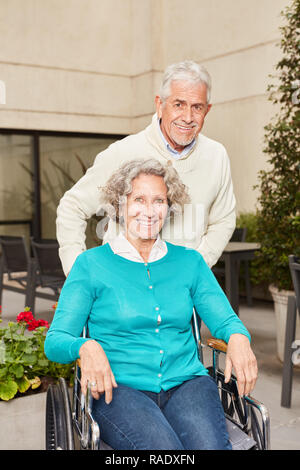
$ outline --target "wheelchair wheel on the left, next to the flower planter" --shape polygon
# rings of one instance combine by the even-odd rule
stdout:
[[[70,398],[62,378],[47,391],[46,450],[74,450]]]

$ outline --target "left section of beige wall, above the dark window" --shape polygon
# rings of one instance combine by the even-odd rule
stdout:
[[[130,130],[130,0],[2,0],[0,15],[0,127]]]

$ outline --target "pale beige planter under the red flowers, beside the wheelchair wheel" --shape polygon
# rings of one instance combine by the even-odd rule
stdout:
[[[0,450],[44,450],[45,413],[45,392],[0,401]]]

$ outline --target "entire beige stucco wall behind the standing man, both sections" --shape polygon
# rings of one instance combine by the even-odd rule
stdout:
[[[229,153],[238,211],[265,166],[268,75],[288,0],[2,0],[0,127],[131,133],[147,125],[164,68],[193,59],[213,79],[203,133]]]

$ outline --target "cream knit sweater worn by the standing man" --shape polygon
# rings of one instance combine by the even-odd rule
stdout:
[[[161,139],[157,116],[138,134],[114,142],[99,153],[94,165],[62,197],[57,208],[57,239],[65,274],[86,249],[86,220],[101,210],[99,187],[127,160],[156,158],[171,161],[189,188],[192,204],[182,217],[168,219],[162,238],[198,250],[211,267],[220,257],[235,228],[235,197],[226,150],[199,134],[196,145],[179,160],[171,157]],[[104,242],[118,232],[109,222]]]

